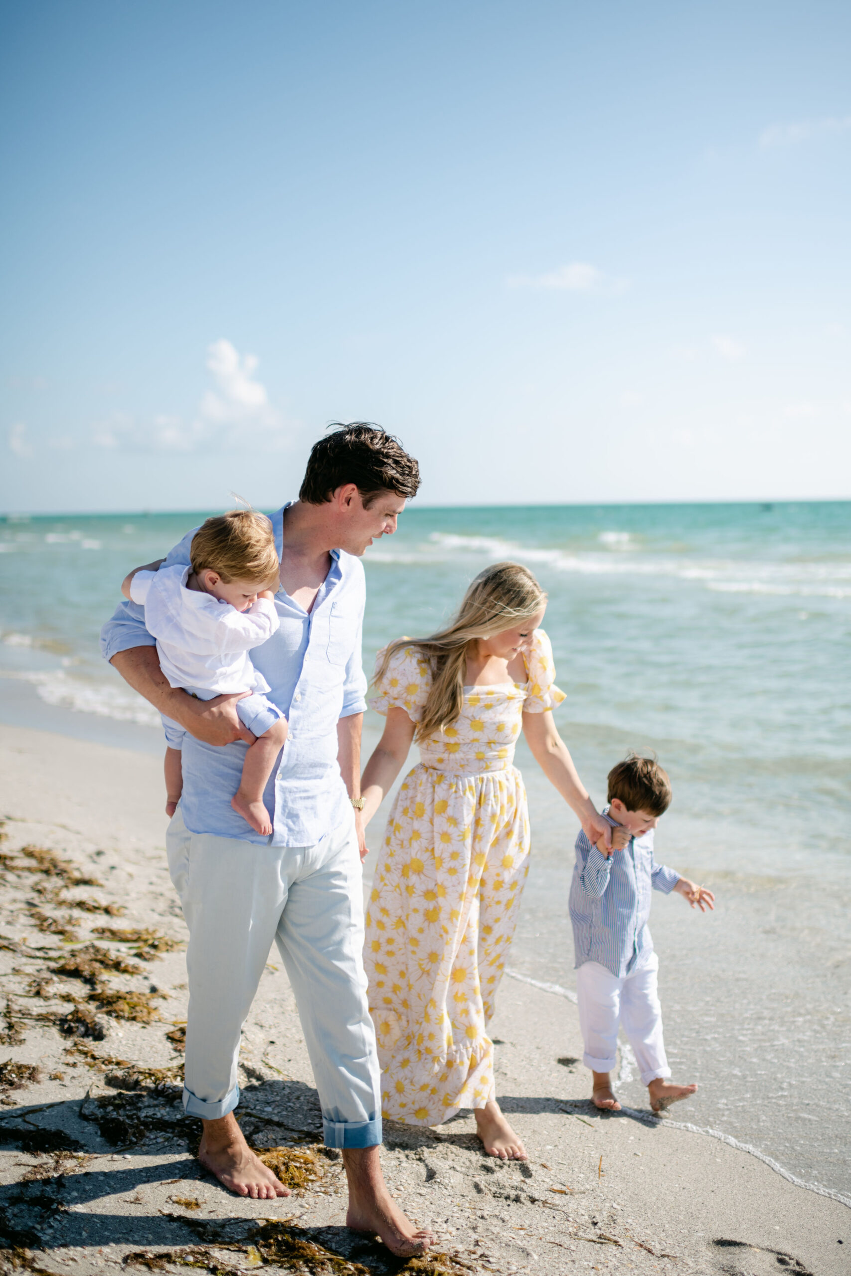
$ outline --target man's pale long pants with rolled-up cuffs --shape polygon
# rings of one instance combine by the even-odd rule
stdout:
[[[325,1143],[381,1142],[380,1067],[364,974],[364,896],[355,820],[316,846],[258,846],[190,833],[180,806],[168,872],[189,926],[184,1108],[232,1111],[240,1032],[274,940],[295,993]]]

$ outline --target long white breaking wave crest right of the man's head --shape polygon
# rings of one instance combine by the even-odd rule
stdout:
[[[625,537],[625,540],[624,540]],[[522,545],[499,536],[462,536],[431,532],[426,541],[408,551],[376,550],[370,561],[427,565],[453,559],[517,559],[546,564],[558,572],[579,575],[671,577],[702,582],[707,590],[722,593],[766,593],[791,597],[851,597],[851,563],[754,563],[735,559],[692,559],[672,554],[638,553],[629,532],[601,532],[598,540],[629,554],[595,550],[559,550]]]

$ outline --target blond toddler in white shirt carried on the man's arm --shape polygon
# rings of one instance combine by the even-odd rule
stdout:
[[[137,568],[121,592],[145,611],[145,628],[157,639],[159,665],[171,686],[202,701],[232,692],[251,694],[236,712],[256,740],[242,763],[242,780],[231,799],[233,810],[255,832],[269,836],[272,820],[263,790],[287,739],[287,720],[263,694],[267,680],[249,658],[278,628],[272,601],[279,588],[278,555],[264,514],[232,509],[208,518],[191,544],[191,567],[158,572]],[[172,718],[166,729],[166,814],[174,815],[182,792],[180,750],[186,732]]]

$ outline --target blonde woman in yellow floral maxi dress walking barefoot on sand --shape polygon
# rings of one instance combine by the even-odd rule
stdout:
[[[485,1151],[517,1160],[526,1151],[496,1102],[485,1028],[528,872],[526,790],[512,764],[521,729],[591,840],[610,833],[549,712],[564,693],[545,610],[532,573],[498,563],[447,629],[379,652],[371,704],[387,726],[361,785],[369,823],[417,740],[422,760],[393,804],[366,915],[384,1115],[438,1125],[472,1108]]]

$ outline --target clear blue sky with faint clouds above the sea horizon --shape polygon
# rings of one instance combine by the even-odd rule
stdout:
[[[0,23],[0,510],[851,496],[845,0]]]

